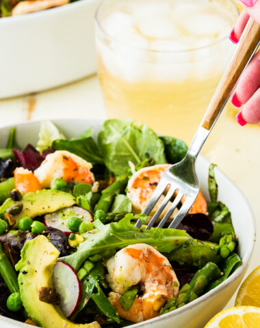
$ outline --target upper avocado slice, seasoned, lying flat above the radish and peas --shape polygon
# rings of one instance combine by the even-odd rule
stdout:
[[[18,221],[22,217],[37,217],[38,215],[44,215],[47,213],[53,213],[60,208],[73,206],[76,204],[76,199],[70,193],[59,191],[55,189],[42,189],[36,191],[36,193],[25,193],[23,199],[20,201],[23,203],[23,210],[18,215],[14,215],[16,223],[13,228],[18,224]],[[16,204],[14,200],[8,198],[0,207],[0,214],[5,213],[8,208]]]

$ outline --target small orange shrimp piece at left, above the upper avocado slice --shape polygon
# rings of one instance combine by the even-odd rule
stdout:
[[[16,167],[14,170],[14,185],[21,193],[34,193],[42,189],[42,185],[33,172],[23,167]]]

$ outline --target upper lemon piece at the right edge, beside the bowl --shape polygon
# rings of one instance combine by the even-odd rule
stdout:
[[[260,265],[248,275],[240,286],[235,306],[249,305],[260,308]],[[260,327],[260,326],[259,326]]]

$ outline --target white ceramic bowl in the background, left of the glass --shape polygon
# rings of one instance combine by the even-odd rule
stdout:
[[[79,0],[0,18],[0,98],[29,94],[96,72],[94,13],[100,0]]]

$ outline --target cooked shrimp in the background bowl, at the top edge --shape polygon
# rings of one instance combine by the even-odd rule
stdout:
[[[12,16],[29,14],[31,12],[39,12],[60,5],[66,5],[69,0],[29,0],[20,1],[12,10]]]

